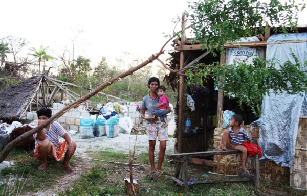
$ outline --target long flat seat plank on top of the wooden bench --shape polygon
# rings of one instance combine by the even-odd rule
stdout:
[[[238,150],[226,150],[226,151],[203,151],[194,153],[177,153],[172,155],[165,155],[168,158],[180,158],[180,157],[200,157],[200,156],[212,156],[212,155],[229,155],[239,154],[241,151]]]

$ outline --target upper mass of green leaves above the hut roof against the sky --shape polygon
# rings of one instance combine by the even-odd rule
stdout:
[[[199,40],[216,55],[224,52],[224,43],[241,37],[249,37],[265,32],[263,26],[269,23],[274,30],[286,33],[295,30],[297,13],[305,4],[295,1],[273,0],[266,3],[260,0],[201,0],[189,5],[186,12],[191,23],[194,40]]]

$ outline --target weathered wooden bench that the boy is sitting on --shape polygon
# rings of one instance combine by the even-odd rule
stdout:
[[[223,180],[204,180],[204,181],[196,181],[192,183],[188,183],[188,162],[192,162],[192,157],[201,157],[201,156],[214,156],[214,155],[227,155],[227,154],[240,154],[241,152],[238,150],[226,150],[226,151],[204,151],[204,152],[194,152],[194,153],[179,153],[179,154],[172,154],[166,155],[167,158],[173,159],[176,168],[175,174],[172,177],[174,183],[179,184],[180,186],[184,187],[185,190],[188,190],[188,186],[194,184],[208,184],[208,183],[220,183],[220,182],[244,182],[254,180],[255,186],[257,188],[260,187],[260,180],[259,180],[259,159],[258,155],[255,156],[256,161],[256,168],[255,174],[245,174],[243,171],[240,172],[240,175],[237,178],[233,179],[223,179]]]

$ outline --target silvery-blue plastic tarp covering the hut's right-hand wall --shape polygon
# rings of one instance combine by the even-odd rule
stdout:
[[[272,35],[268,42],[284,42],[307,40],[307,33]],[[291,53],[295,54],[301,64],[301,70],[306,70],[307,43],[283,43],[267,45],[267,59],[278,59],[280,65],[286,61],[294,63]],[[262,100],[261,117],[254,122],[260,127],[259,145],[262,148],[262,161],[273,160],[283,167],[291,168],[295,153],[300,115],[307,114],[307,97],[305,92],[290,95],[284,92],[266,95]]]

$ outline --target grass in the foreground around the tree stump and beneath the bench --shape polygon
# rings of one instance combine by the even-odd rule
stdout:
[[[115,162],[126,162],[129,159],[123,152],[111,150],[101,151],[91,154],[93,158]],[[256,189],[254,182],[242,183],[216,183],[200,184],[189,186],[188,192],[180,186],[175,186],[171,180],[174,174],[174,165],[163,162],[164,175],[158,179],[152,179],[149,175],[149,160],[147,153],[136,155],[135,164],[143,164],[147,170],[134,169],[134,178],[140,184],[138,195],[305,195],[305,191],[295,191],[288,185],[261,181],[261,188]],[[74,183],[70,190],[65,190],[59,195],[125,195],[126,188],[123,178],[129,177],[127,165],[94,161],[97,165],[91,169],[89,174],[82,175],[81,179]],[[156,160],[157,163],[157,160]],[[210,169],[204,166],[189,164],[189,177],[196,178],[197,181],[209,179],[229,178],[220,175],[208,174]],[[99,174],[97,174],[99,173]],[[203,175],[207,174],[207,175]],[[93,177],[92,177],[93,176]]]

